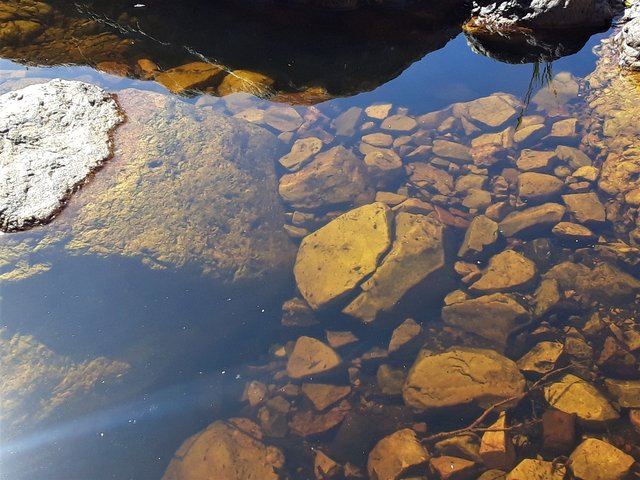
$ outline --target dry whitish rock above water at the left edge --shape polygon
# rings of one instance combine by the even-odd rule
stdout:
[[[110,94],[83,82],[55,79],[0,96],[0,229],[50,220],[107,160],[122,120]]]

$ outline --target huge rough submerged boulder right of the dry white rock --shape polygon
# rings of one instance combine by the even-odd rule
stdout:
[[[124,90],[118,100],[127,123],[116,131],[113,161],[65,218],[67,250],[156,268],[196,265],[224,282],[290,271],[276,137],[171,96]]]

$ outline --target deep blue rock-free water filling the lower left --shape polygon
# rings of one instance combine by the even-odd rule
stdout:
[[[0,478],[159,478],[179,442],[235,405],[243,367],[274,338],[289,284],[264,283],[225,287],[188,269],[79,256],[3,284],[9,335],[32,334],[73,361],[103,355],[130,370],[3,441]]]

